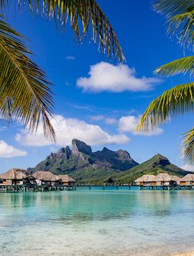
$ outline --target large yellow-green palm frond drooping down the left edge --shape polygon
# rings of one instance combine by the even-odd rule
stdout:
[[[0,16],[0,116],[24,123],[36,131],[43,122],[45,136],[55,140],[50,123],[52,93],[45,73],[27,56],[22,35]]]

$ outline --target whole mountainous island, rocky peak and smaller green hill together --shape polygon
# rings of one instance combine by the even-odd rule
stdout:
[[[91,185],[129,184],[142,175],[157,175],[160,172],[180,177],[190,173],[171,164],[161,154],[138,164],[125,150],[111,151],[105,147],[102,151],[93,152],[91,146],[78,139],[73,139],[71,149],[66,146],[57,153],[51,153],[36,167],[28,168],[27,172],[40,170],[55,175],[70,174],[78,183]]]

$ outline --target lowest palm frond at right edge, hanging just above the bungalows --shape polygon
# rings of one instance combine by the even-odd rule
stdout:
[[[185,133],[182,142],[185,161],[194,164],[194,128]]]

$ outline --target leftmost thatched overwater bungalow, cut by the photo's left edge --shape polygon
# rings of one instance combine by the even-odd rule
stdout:
[[[30,177],[24,169],[12,168],[0,175],[1,185],[26,185]]]

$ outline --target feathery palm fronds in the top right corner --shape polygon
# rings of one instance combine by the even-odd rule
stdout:
[[[190,0],[158,0],[154,3],[157,12],[166,14],[170,35],[177,35],[180,45],[191,45],[194,40],[194,3]]]

